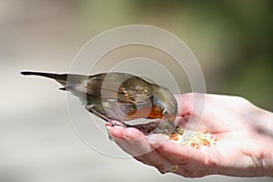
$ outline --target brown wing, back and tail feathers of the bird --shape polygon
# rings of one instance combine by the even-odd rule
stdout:
[[[55,79],[61,90],[74,94],[86,94],[99,98],[116,99],[118,102],[144,104],[152,96],[150,84],[137,76],[120,73],[102,73],[94,76],[76,74],[51,74],[40,72],[21,72],[25,76],[45,76]],[[137,81],[137,85],[132,85]],[[142,93],[145,93],[143,95]]]

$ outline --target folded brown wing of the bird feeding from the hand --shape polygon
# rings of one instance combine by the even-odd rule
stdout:
[[[118,102],[143,104],[149,102],[152,87],[137,76],[124,73],[105,73],[90,76],[76,86],[76,91]]]

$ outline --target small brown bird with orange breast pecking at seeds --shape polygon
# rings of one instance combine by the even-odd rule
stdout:
[[[164,125],[144,124],[135,127],[144,133],[171,134],[176,126],[177,99],[164,86],[148,82],[140,76],[128,73],[107,72],[91,76],[78,74],[54,74],[34,71],[22,71],[24,76],[44,76],[55,79],[63,87],[77,96],[86,110],[106,122],[116,125],[115,121],[124,126],[134,119],[160,119]],[[114,121],[114,122],[113,122]],[[158,129],[159,126],[159,129]],[[157,128],[157,129],[156,129]]]

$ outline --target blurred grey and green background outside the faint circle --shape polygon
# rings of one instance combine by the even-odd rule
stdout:
[[[162,176],[132,158],[97,153],[76,136],[58,85],[19,75],[65,73],[79,49],[101,32],[155,25],[189,46],[207,93],[244,96],[273,111],[272,10],[270,0],[0,0],[0,181],[272,181]]]

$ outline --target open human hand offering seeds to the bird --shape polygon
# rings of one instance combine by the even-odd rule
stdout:
[[[209,132],[215,147],[183,146],[134,127],[110,126],[109,135],[136,160],[183,177],[273,177],[273,114],[239,96],[177,96],[176,124]]]

